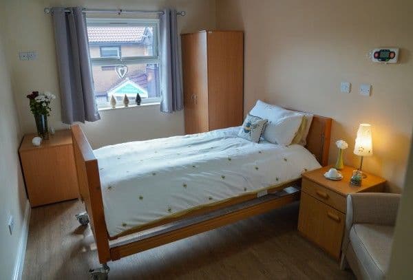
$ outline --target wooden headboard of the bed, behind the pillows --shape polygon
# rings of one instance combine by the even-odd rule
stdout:
[[[306,148],[315,155],[322,166],[328,164],[328,149],[330,148],[331,118],[314,115],[307,136]]]

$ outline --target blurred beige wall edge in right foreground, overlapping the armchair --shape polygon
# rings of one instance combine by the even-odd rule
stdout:
[[[410,279],[413,275],[413,142],[410,150],[410,160],[407,167],[405,188],[399,206],[392,257],[387,279]]]

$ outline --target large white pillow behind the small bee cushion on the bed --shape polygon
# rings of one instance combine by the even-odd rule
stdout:
[[[291,141],[293,141],[295,134],[301,126],[304,116],[304,113],[270,105],[261,100],[257,100],[257,103],[249,114],[267,119],[268,123],[264,131],[264,139],[268,142],[283,145],[291,144]],[[311,115],[311,120],[313,120],[313,115]],[[306,133],[303,133],[302,138],[304,138],[304,141],[307,138],[310,125],[311,123],[306,127]],[[300,142],[302,142],[301,140],[302,139],[300,139]]]

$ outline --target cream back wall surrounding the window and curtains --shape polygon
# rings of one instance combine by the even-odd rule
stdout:
[[[59,96],[56,52],[52,17],[44,14],[48,6],[84,6],[125,10],[159,10],[168,6],[185,10],[178,17],[180,32],[215,28],[215,0],[5,0],[7,7],[7,50],[11,60],[13,91],[23,133],[34,132],[34,119],[25,96],[32,90],[49,90]],[[16,20],[18,19],[18,20]],[[35,61],[19,61],[18,52],[38,52]],[[52,105],[51,125],[65,128],[61,122],[60,98]],[[94,148],[130,140],[145,140],[184,133],[184,114],[160,113],[159,106],[102,111],[101,120],[86,123],[83,128]],[[126,129],[125,129],[126,127]]]

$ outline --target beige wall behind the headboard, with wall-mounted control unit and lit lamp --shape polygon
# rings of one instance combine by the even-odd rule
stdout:
[[[370,123],[374,155],[363,167],[400,191],[413,123],[413,1],[219,0],[216,10],[218,28],[245,31],[245,112],[260,98],[329,116],[329,161],[344,139],[354,166],[358,125]],[[401,47],[400,63],[372,63],[366,53],[381,46]],[[341,81],[352,83],[350,94],[339,92]],[[358,94],[361,83],[372,85],[370,97]]]

